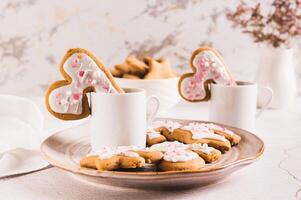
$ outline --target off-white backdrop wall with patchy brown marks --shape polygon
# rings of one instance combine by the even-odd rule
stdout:
[[[49,83],[61,78],[58,63],[70,47],[93,51],[107,66],[128,54],[163,56],[181,72],[190,69],[195,48],[210,44],[237,79],[253,80],[260,49],[225,18],[226,10],[238,2],[1,0],[0,92],[42,95]],[[299,80],[300,65],[297,60]]]

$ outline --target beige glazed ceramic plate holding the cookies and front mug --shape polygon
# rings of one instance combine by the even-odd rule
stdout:
[[[173,119],[174,120],[174,119]],[[180,123],[204,122],[176,120]],[[69,171],[81,180],[96,185],[111,185],[131,188],[193,187],[213,183],[232,172],[256,161],[264,151],[264,143],[256,135],[234,127],[225,126],[241,136],[241,142],[213,164],[196,171],[156,171],[148,166],[140,171],[103,171],[81,168],[80,159],[91,149],[88,124],[59,131],[41,145],[44,158],[53,166]]]

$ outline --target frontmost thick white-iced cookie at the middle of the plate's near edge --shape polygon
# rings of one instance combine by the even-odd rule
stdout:
[[[205,166],[205,161],[197,153],[174,149],[164,153],[158,167],[163,171],[198,170]]]

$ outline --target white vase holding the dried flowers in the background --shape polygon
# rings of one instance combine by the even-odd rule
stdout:
[[[266,48],[261,54],[256,82],[273,90],[270,108],[286,108],[296,96],[296,77],[293,65],[293,49]],[[267,94],[260,92],[258,105],[266,102]]]

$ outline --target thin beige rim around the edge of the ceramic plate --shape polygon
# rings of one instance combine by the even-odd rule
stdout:
[[[165,172],[163,172],[163,171],[162,172],[161,171],[159,171],[159,172],[98,171],[97,174],[91,174],[91,173],[88,173],[86,171],[81,170],[80,167],[78,169],[74,169],[74,168],[70,168],[66,165],[59,164],[57,161],[52,159],[51,156],[48,156],[47,153],[43,150],[44,146],[46,145],[47,140],[49,140],[52,137],[55,137],[55,135],[60,134],[64,130],[74,129],[78,126],[83,125],[83,124],[80,124],[80,125],[77,125],[77,126],[74,126],[74,127],[71,127],[71,128],[67,128],[67,129],[64,129],[64,130],[57,131],[56,133],[54,133],[54,134],[50,135],[49,137],[47,137],[41,143],[40,151],[41,151],[42,156],[44,157],[44,159],[47,160],[51,165],[53,165],[55,167],[58,167],[60,169],[69,171],[69,172],[74,173],[74,174],[87,175],[87,176],[92,176],[92,177],[106,177],[105,175],[114,175],[114,174],[116,174],[118,176],[119,175],[125,175],[126,178],[130,178],[132,176],[135,176],[135,178],[137,178],[137,176],[140,176],[140,177],[145,177],[145,176],[155,176],[156,177],[157,176],[158,177],[159,175],[172,175],[172,174],[180,175],[180,174],[195,174],[195,173],[200,174],[200,173],[216,172],[216,171],[221,171],[221,170],[225,170],[225,169],[228,169],[228,168],[232,168],[232,167],[235,167],[235,166],[238,166],[238,165],[243,165],[243,164],[255,162],[264,153],[265,145],[264,145],[263,140],[261,140],[257,135],[255,135],[255,134],[253,134],[249,131],[243,130],[243,129],[239,129],[239,128],[236,128],[236,127],[233,127],[233,126],[228,126],[228,125],[224,125],[224,124],[220,124],[220,123],[216,123],[216,122],[204,121],[204,120],[187,120],[187,119],[175,119],[175,118],[156,118],[156,120],[184,120],[184,121],[198,121],[198,122],[205,122],[205,123],[215,123],[215,124],[218,124],[218,125],[221,125],[221,126],[224,126],[224,127],[228,127],[228,128],[232,128],[232,129],[236,129],[236,130],[241,130],[243,132],[246,132],[247,134],[251,134],[253,137],[255,137],[258,140],[258,142],[261,143],[261,148],[258,150],[258,152],[256,152],[256,154],[254,156],[239,159],[235,162],[232,162],[232,163],[229,163],[229,164],[226,164],[226,165],[223,165],[223,166],[219,166],[219,167],[214,167],[213,166],[213,167],[210,167],[210,168],[200,169],[200,170],[165,171]],[[112,177],[110,177],[110,178],[112,178]],[[121,178],[121,176],[116,177],[116,178]]]

